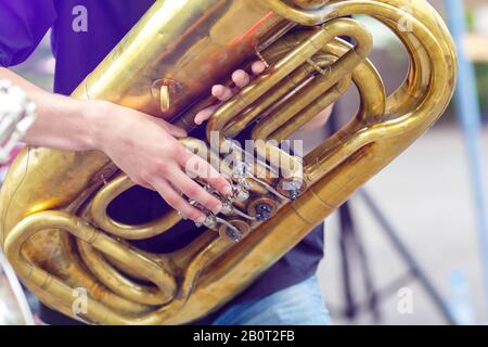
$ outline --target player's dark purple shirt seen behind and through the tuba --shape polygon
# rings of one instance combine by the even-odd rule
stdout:
[[[54,91],[70,94],[154,2],[0,0],[0,65],[24,62],[52,28],[52,50],[56,57]],[[87,9],[87,31],[80,30],[79,26],[77,30],[73,28],[73,21],[79,15],[77,11],[73,14],[77,5]],[[113,203],[110,213],[120,221],[140,223],[160,215],[166,208],[157,194],[136,188]],[[134,242],[134,245],[151,252],[170,252],[202,232],[190,222],[177,227],[158,237]],[[233,303],[257,299],[306,280],[316,272],[322,257],[323,231],[320,226]],[[48,323],[67,322],[46,308],[42,319]]]

